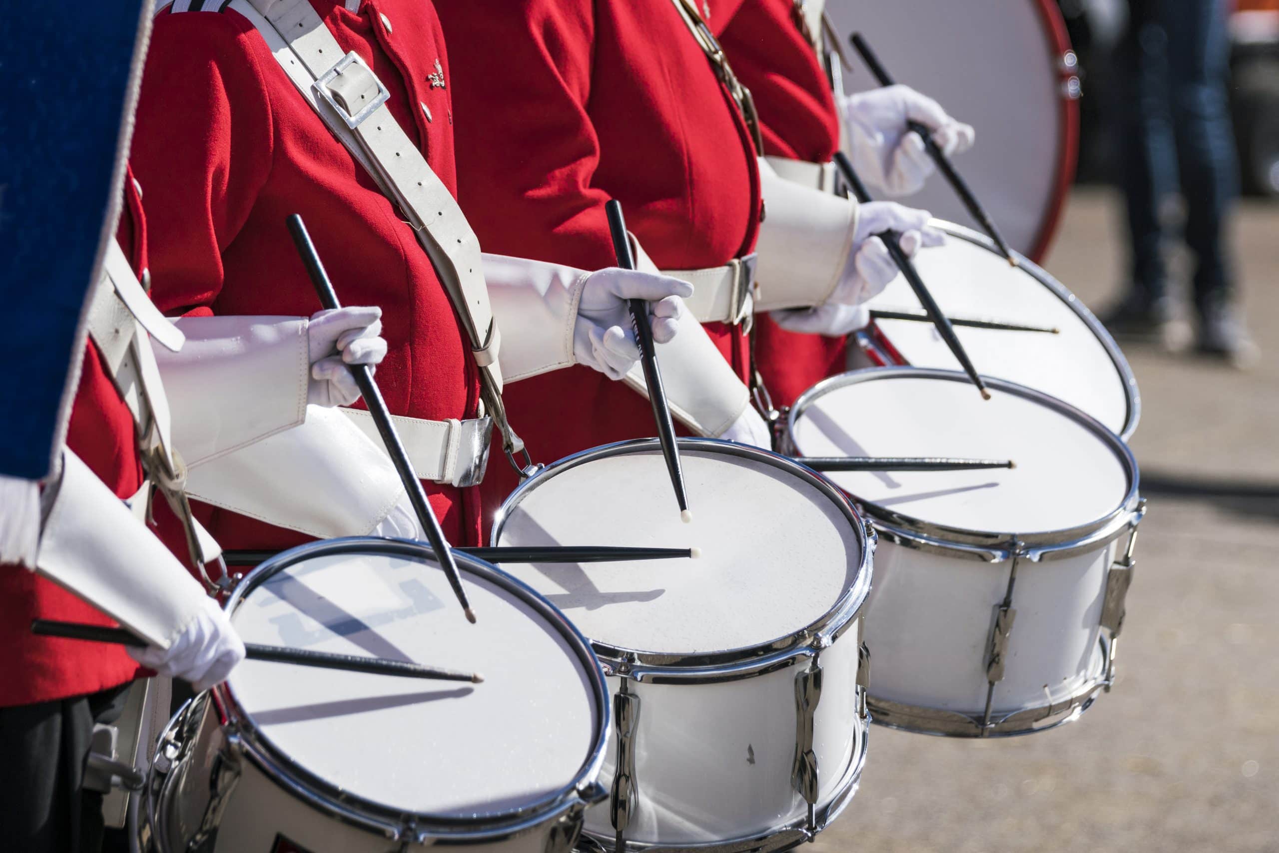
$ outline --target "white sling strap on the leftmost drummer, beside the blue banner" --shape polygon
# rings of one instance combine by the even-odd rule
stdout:
[[[120,399],[133,414],[134,436],[146,482],[132,501],[134,513],[152,519],[155,491],[164,495],[182,522],[187,550],[210,587],[206,564],[220,561],[221,549],[196,520],[187,499],[187,466],[170,436],[169,402],[160,381],[160,368],[151,349],[153,338],[165,349],[177,352],[185,338],[160,313],[138,283],[124,251],[109,242],[102,278],[93,292],[88,311],[88,333],[102,356]],[[142,495],[146,500],[138,500]],[[225,578],[225,569],[221,574]]]

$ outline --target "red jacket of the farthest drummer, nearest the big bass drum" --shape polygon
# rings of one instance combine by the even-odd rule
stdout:
[[[829,162],[839,150],[839,114],[826,72],[792,17],[792,0],[711,0],[711,19],[742,84],[755,96],[769,155]],[[755,359],[776,405],[842,373],[843,338],[798,335],[757,316]]]

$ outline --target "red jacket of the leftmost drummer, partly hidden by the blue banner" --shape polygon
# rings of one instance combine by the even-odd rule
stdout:
[[[118,238],[133,269],[146,269],[146,226],[138,193],[125,182]],[[119,497],[142,487],[133,414],[120,399],[97,347],[84,350],[79,385],[67,428],[67,445]],[[96,693],[133,680],[138,665],[120,646],[36,637],[32,619],[115,625],[96,607],[18,565],[0,565],[0,707],[51,702]]]

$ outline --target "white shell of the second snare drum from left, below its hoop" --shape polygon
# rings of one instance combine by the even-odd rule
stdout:
[[[821,696],[813,710],[819,824],[833,820],[856,790],[866,755],[867,720],[858,687],[861,618],[817,655]],[[628,843],[730,844],[776,838],[807,825],[807,803],[792,780],[799,708],[796,679],[811,647],[742,675],[668,670],[628,677],[640,698],[636,719],[637,810]],[[616,697],[622,678],[609,678]],[[616,698],[614,698],[616,701]],[[618,738],[609,742],[601,781],[616,772]],[[820,829],[820,826],[817,827]],[[613,847],[609,802],[586,812],[586,831]],[[796,841],[803,840],[797,835]]]

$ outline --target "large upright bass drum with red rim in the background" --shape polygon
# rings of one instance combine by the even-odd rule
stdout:
[[[897,82],[977,129],[955,165],[1008,244],[1042,260],[1079,136],[1078,67],[1056,4],[826,0],[826,12],[842,38],[861,32]],[[844,75],[845,91],[874,88],[856,51],[840,47],[857,69]],[[977,226],[938,174],[909,205]]]

